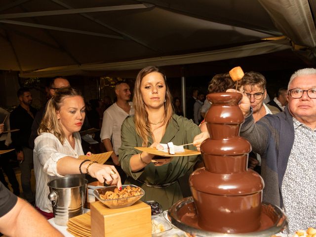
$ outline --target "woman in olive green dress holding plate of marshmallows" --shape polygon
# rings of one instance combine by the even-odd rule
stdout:
[[[127,117],[121,127],[118,156],[128,175],[125,184],[140,186],[145,190],[143,200],[156,200],[166,210],[183,197],[178,179],[193,171],[198,158],[155,157],[135,147],[162,148],[159,143],[192,143],[200,130],[192,120],[173,113],[172,96],[164,74],[157,67],[149,66],[138,73],[133,104],[135,115]],[[193,145],[186,148],[195,150]]]

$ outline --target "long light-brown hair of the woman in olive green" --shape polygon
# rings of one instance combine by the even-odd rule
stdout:
[[[142,93],[141,93],[141,83],[142,79],[153,72],[158,72],[164,78],[164,83],[166,86],[166,95],[165,95],[165,102],[164,102],[164,116],[161,125],[168,125],[170,118],[173,114],[173,107],[172,107],[172,95],[169,91],[168,84],[166,82],[165,75],[159,70],[158,67],[155,66],[148,66],[143,68],[137,75],[135,86],[134,86],[134,97],[133,97],[133,104],[135,109],[135,129],[136,133],[143,139],[143,147],[147,147],[148,145],[148,137],[152,136],[152,130],[148,120],[148,113],[145,109],[145,104],[143,101]]]

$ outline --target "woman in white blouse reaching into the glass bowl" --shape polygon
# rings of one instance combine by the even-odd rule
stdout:
[[[99,182],[105,181],[121,189],[120,177],[114,166],[78,159],[84,155],[79,134],[84,117],[83,98],[79,91],[71,87],[56,90],[46,105],[38,129],[39,136],[35,139],[33,159],[36,206],[47,219],[53,217],[47,183],[58,177],[90,174]]]

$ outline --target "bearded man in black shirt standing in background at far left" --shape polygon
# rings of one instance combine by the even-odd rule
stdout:
[[[15,148],[19,166],[21,169],[21,184],[23,194],[30,203],[35,202],[34,194],[31,190],[31,170],[33,167],[33,150],[29,147],[29,137],[31,126],[37,110],[31,106],[32,94],[27,87],[21,87],[17,96],[20,105],[15,108],[10,116],[11,129],[20,129],[11,133],[12,144]]]

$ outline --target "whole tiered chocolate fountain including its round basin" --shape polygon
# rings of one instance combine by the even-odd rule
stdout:
[[[207,95],[210,138],[201,144],[205,167],[190,176],[192,197],[168,211],[172,224],[194,236],[271,236],[287,224],[278,207],[262,203],[261,176],[247,169],[250,144],[239,137],[240,93]]]

